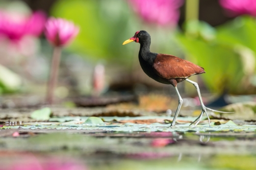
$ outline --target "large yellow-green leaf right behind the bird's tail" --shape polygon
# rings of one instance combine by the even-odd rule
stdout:
[[[205,69],[207,74],[201,76],[211,91],[241,93],[244,90],[241,85],[245,76],[241,68],[246,67],[243,64],[243,52],[218,41],[207,42],[183,34],[177,35],[177,39],[189,60]],[[241,47],[242,51],[245,49],[247,48]]]

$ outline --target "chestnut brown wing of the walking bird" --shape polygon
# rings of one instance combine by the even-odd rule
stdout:
[[[153,62],[153,68],[159,76],[166,79],[187,78],[205,73],[202,67],[168,54],[158,54]]]

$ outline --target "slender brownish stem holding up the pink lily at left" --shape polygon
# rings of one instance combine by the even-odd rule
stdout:
[[[52,66],[50,67],[50,74],[48,80],[47,97],[46,102],[48,104],[54,104],[54,90],[57,84],[59,65],[61,58],[61,47],[55,47],[52,58]]]

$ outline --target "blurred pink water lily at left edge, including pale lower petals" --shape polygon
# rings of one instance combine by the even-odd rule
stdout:
[[[34,56],[45,22],[42,11],[0,10],[0,63],[13,66],[14,61],[25,63],[28,57]]]

